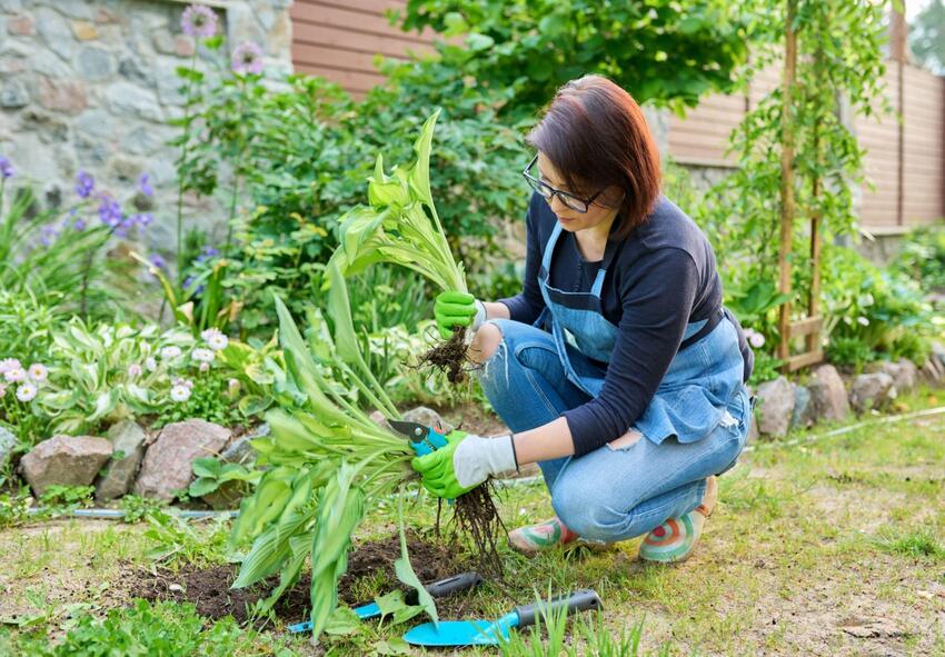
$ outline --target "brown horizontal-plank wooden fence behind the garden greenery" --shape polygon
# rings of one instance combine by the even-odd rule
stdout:
[[[434,33],[402,32],[388,10],[406,0],[295,0],[292,60],[298,72],[324,76],[360,96],[382,80],[374,56],[429,52]],[[886,93],[904,118],[858,117],[855,129],[866,149],[865,172],[875,186],[864,188],[863,225],[876,232],[931,223],[945,217],[945,78],[915,66],[903,67],[902,100],[895,61],[886,72]],[[745,112],[779,83],[779,70],[763,71],[745,94],[713,94],[685,119],[669,120],[668,148],[689,166],[730,167],[728,135]]]

